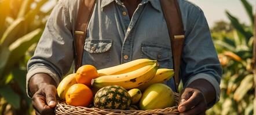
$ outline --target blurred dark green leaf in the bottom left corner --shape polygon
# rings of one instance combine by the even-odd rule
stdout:
[[[0,94],[15,109],[20,108],[21,98],[10,87],[1,87],[0,88]]]

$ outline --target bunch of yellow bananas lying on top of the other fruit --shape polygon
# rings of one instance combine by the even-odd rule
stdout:
[[[167,68],[158,69],[156,60],[138,59],[118,66],[98,70],[100,77],[93,79],[93,89],[109,85],[119,85],[125,89],[145,90],[154,83],[169,80],[174,71]]]

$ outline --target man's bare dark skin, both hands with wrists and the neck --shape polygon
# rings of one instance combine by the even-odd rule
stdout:
[[[133,16],[141,0],[122,0],[129,17]],[[56,106],[56,82],[47,74],[35,74],[29,81],[29,89],[33,95],[32,105],[36,114],[54,114]],[[204,79],[193,81],[181,92],[178,106],[180,114],[205,114],[207,104],[215,99],[215,90],[210,82]]]

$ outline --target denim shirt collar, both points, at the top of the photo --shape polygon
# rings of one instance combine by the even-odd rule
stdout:
[[[122,5],[122,2],[120,0],[101,0],[101,9],[103,9],[103,7],[109,5],[111,2],[116,2],[118,5]],[[158,11],[161,10],[160,7],[160,0],[142,0],[142,4],[148,3],[150,2],[152,7]]]

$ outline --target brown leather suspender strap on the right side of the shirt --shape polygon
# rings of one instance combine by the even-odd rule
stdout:
[[[175,72],[174,81],[176,90],[178,91],[181,55],[185,39],[180,7],[178,6],[177,0],[160,0],[160,2],[169,30]]]

